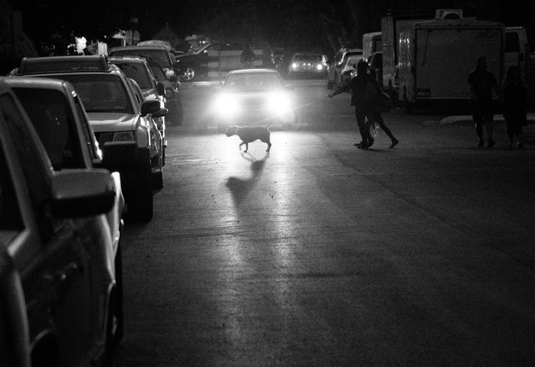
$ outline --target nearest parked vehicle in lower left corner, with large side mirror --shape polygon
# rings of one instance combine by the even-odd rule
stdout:
[[[6,358],[15,366],[111,365],[117,284],[102,228],[115,198],[108,170],[54,170],[0,78],[0,283],[15,289],[0,312],[7,328],[23,328],[0,356],[3,366]],[[0,325],[0,335],[13,333]]]

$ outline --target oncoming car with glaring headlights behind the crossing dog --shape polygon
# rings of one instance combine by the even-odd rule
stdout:
[[[291,89],[292,86],[282,84],[275,69],[231,71],[213,100],[211,112],[218,132],[225,132],[231,125],[293,123],[296,116]]]

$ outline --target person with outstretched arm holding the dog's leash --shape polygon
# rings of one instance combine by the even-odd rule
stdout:
[[[357,119],[357,125],[359,127],[360,136],[362,141],[354,144],[357,148],[367,149],[374,143],[374,138],[370,134],[370,126],[366,123],[366,118],[370,120],[374,115],[374,101],[377,98],[377,88],[367,73],[367,63],[365,61],[359,61],[357,63],[357,76],[352,78],[348,83],[336,91],[327,95],[332,98],[345,91],[351,91],[351,105],[355,106],[355,118]]]

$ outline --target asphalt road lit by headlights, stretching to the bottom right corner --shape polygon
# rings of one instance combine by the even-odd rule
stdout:
[[[534,365],[535,126],[477,148],[468,123],[385,115],[370,150],[347,95],[297,82],[272,149],[214,133],[184,88],[165,187],[126,224],[116,366]]]

